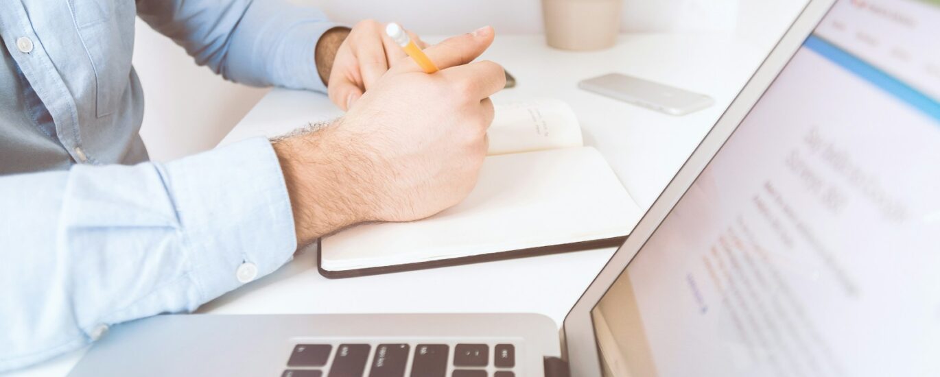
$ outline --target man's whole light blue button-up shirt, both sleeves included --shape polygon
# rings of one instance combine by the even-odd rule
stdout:
[[[146,162],[135,15],[229,80],[323,89],[335,24],[283,0],[0,1],[0,370],[194,310],[296,248],[267,140]]]

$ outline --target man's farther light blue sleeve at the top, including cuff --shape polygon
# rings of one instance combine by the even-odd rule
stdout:
[[[320,10],[287,0],[139,0],[137,14],[227,80],[325,90],[314,52],[337,24]]]

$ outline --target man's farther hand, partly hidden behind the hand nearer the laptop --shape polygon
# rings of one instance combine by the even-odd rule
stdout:
[[[408,32],[420,48],[427,44]],[[330,100],[343,111],[362,97],[389,67],[407,55],[385,35],[385,24],[366,20],[352,31],[336,28],[323,34],[317,42],[317,70],[327,84]]]

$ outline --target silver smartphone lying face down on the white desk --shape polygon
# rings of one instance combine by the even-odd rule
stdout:
[[[704,94],[619,73],[589,78],[578,83],[578,87],[674,116],[686,115],[714,103],[712,97]]]

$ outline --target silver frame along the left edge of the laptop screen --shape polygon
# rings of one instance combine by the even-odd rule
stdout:
[[[587,290],[572,306],[572,310],[565,317],[561,329],[561,349],[563,357],[568,360],[574,376],[600,376],[601,364],[598,357],[597,342],[594,337],[594,326],[590,311],[601,300],[603,293],[614,283],[620,273],[627,267],[630,260],[650,239],[650,236],[659,228],[666,214],[670,212],[684,195],[686,190],[697,179],[699,173],[712,160],[714,154],[721,149],[730,134],[738,128],[751,108],[760,100],[764,91],[774,82],[777,75],[790,61],[791,57],[803,45],[804,40],[812,33],[823,20],[826,12],[836,3],[836,0],[810,0],[800,14],[777,42],[774,49],[760,64],[751,79],[731,102],[725,113],[715,122],[712,130],[705,135],[702,142],[682,165],[672,181],[666,185],[663,193],[656,198],[643,218],[631,232],[627,241],[620,245],[614,256],[607,261],[601,273],[598,274]]]

